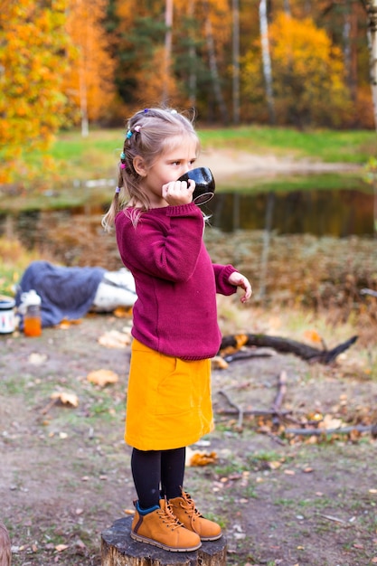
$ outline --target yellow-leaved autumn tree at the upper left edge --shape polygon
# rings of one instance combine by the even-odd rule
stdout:
[[[66,7],[66,0],[1,3],[0,183],[27,172],[25,156],[48,147],[66,120]]]

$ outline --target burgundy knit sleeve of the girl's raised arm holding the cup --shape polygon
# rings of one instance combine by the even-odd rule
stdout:
[[[173,282],[186,281],[193,274],[203,241],[203,214],[191,204],[169,206],[164,216],[143,214],[127,233],[117,227],[122,259],[153,277]],[[135,261],[133,260],[135,259]]]

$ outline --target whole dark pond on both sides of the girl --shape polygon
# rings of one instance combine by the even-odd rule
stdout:
[[[48,212],[1,214],[0,236],[16,237],[31,249],[49,239],[49,227],[83,225],[90,233],[101,231],[100,218],[107,206],[86,205]],[[275,231],[281,235],[313,234],[317,237],[375,235],[377,194],[371,189],[305,190],[287,192],[217,192],[203,205],[210,224],[222,232]]]

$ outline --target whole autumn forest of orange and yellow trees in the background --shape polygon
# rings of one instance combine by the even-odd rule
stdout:
[[[143,105],[207,125],[374,127],[374,0],[1,0],[0,183]],[[374,12],[373,12],[374,10]],[[374,21],[375,24],[375,21]],[[38,165],[39,166],[39,165]]]

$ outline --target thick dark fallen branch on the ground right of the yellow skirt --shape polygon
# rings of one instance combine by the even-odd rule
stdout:
[[[283,338],[281,336],[247,334],[244,338],[243,345],[245,346],[272,348],[281,354],[295,354],[303,360],[306,360],[306,362],[327,364],[334,362],[335,358],[339,354],[342,354],[342,352],[352,346],[356,342],[358,336],[353,336],[349,340],[346,340],[346,342],[338,344],[332,350],[319,350],[313,346],[297,342],[296,340],[290,340],[289,338]],[[239,340],[237,335],[224,336],[221,341],[220,351],[229,347],[237,347],[238,344]],[[228,358],[229,356],[227,356],[227,359]]]

